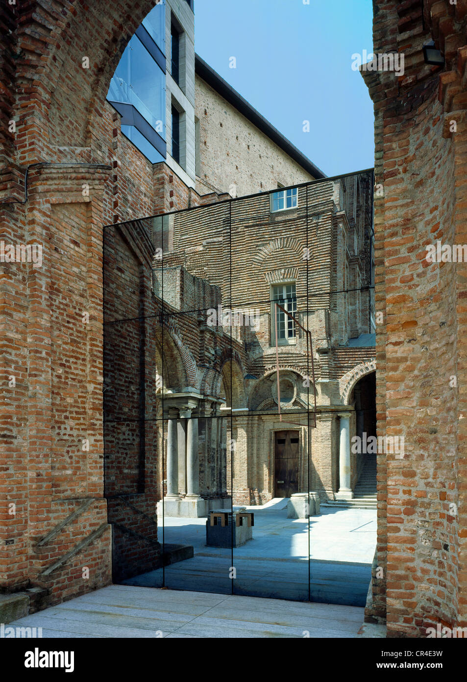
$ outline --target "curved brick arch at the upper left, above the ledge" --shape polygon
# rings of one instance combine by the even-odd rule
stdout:
[[[14,147],[21,149],[16,158],[21,166],[63,159],[105,162],[96,152],[110,78],[127,42],[156,4],[2,3],[0,20],[12,31],[7,57],[14,55],[14,63],[0,61],[0,80],[7,84],[8,113],[17,125],[15,134],[5,134],[7,126],[2,126],[0,142],[11,162]],[[89,57],[88,69],[82,68],[83,57]],[[24,106],[17,107],[18,102]]]

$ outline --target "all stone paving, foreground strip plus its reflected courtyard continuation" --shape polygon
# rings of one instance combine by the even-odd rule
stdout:
[[[10,625],[42,627],[42,636],[52,638],[357,637],[376,511],[324,507],[310,518],[308,602],[308,522],[288,519],[285,505],[248,507],[255,512],[253,540],[233,550],[234,595],[231,550],[206,547],[206,519],[166,518],[165,542],[193,545],[193,559],[165,567],[164,576],[161,569],[136,576]],[[163,578],[166,588],[159,589]]]

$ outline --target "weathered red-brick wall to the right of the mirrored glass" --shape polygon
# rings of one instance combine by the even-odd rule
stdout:
[[[378,432],[404,435],[404,459],[379,456],[379,531],[368,618],[388,636],[466,625],[462,376],[465,264],[425,260],[426,245],[465,243],[464,3],[376,1],[375,52],[405,55],[404,77],[367,73],[376,126]],[[446,66],[423,63],[434,36]],[[459,49],[461,48],[461,49]],[[457,121],[450,134],[449,121]]]

